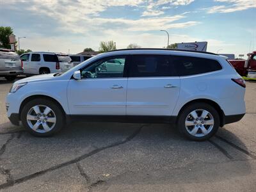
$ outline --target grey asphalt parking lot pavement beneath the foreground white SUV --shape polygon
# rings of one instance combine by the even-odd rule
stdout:
[[[170,125],[92,122],[35,138],[6,118],[11,84],[0,79],[0,190],[256,191],[256,84],[246,85],[243,120],[195,142]]]

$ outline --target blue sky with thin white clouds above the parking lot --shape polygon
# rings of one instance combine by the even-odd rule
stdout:
[[[207,51],[256,51],[256,0],[0,0],[0,26],[11,26],[20,49],[72,54],[113,40],[163,48],[207,41]]]

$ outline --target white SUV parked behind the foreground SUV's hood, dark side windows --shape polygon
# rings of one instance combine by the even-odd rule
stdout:
[[[61,72],[60,61],[54,52],[27,52],[20,56],[26,75]]]

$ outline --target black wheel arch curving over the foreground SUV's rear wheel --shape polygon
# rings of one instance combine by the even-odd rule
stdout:
[[[183,111],[184,108],[186,108],[190,104],[193,104],[193,103],[196,103],[196,102],[204,102],[204,103],[207,103],[207,104],[211,105],[212,107],[214,107],[214,109],[216,109],[216,111],[218,112],[218,114],[220,116],[220,127],[223,127],[223,125],[225,124],[225,122],[224,122],[225,114],[224,114],[223,110],[220,108],[219,104],[214,102],[211,99],[194,99],[194,100],[190,100],[189,102],[184,104],[184,106],[182,106],[182,108],[180,108],[180,111],[179,111],[179,114],[178,114],[178,118],[179,118],[180,113]]]

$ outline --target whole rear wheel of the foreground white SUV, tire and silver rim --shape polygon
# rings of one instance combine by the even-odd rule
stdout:
[[[190,140],[204,141],[211,138],[220,126],[220,116],[215,108],[204,102],[189,105],[179,115],[180,132]]]

